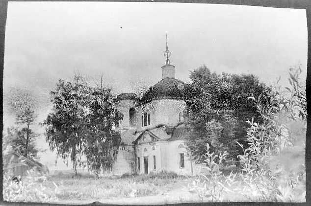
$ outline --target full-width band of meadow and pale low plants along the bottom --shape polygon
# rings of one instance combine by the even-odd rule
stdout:
[[[261,180],[262,176],[252,175],[254,179],[250,179],[248,176],[251,173],[244,173],[243,169],[237,169],[233,165],[221,167],[214,160],[214,155],[207,153],[207,164],[202,167],[202,175],[193,178],[167,171],[96,178],[87,170],[78,170],[78,176],[75,176],[73,170],[50,171],[46,176],[31,170],[19,184],[4,175],[3,195],[4,200],[9,202],[56,204],[305,201],[305,184],[301,180],[298,181],[301,183],[295,183],[295,188],[287,190],[289,187],[283,185],[279,190],[265,185],[267,180]],[[208,174],[208,171],[212,172]],[[256,186],[255,181],[259,183]],[[287,192],[284,193],[282,189]],[[272,199],[276,191],[282,193],[279,193],[277,199]]]

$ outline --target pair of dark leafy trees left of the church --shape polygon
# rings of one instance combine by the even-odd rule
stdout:
[[[96,177],[110,172],[121,144],[113,129],[123,117],[113,107],[110,89],[102,82],[93,88],[75,75],[73,82],[59,80],[51,94],[52,113],[42,123],[51,150],[64,161],[70,156],[76,176],[78,165],[87,165]]]

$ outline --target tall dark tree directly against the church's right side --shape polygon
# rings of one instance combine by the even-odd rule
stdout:
[[[193,83],[184,90],[186,145],[199,163],[204,161],[207,143],[211,145],[211,151],[222,152],[234,145],[235,118],[228,104],[232,85],[215,72],[211,73],[206,66],[191,72],[190,79]]]

